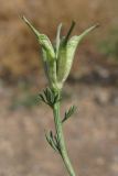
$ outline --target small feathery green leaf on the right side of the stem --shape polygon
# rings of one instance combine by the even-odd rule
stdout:
[[[64,119],[62,120],[62,122],[65,122],[68,118],[72,117],[72,114],[76,111],[76,107],[72,106],[68,111],[65,111],[65,116]]]

